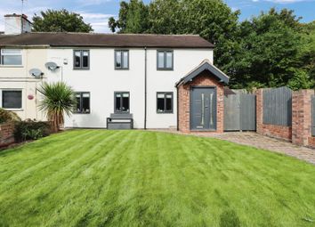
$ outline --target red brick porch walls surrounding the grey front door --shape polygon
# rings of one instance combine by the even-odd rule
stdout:
[[[216,128],[214,133],[223,132],[223,85],[216,77],[209,76],[208,72],[201,73],[192,82],[178,87],[178,117],[179,130],[183,133],[190,132],[190,86],[216,86],[217,107],[216,107]]]

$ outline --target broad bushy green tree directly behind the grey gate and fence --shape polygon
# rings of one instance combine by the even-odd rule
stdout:
[[[292,12],[271,9],[243,21],[238,30],[240,48],[231,62],[231,85],[309,88],[309,78],[298,56],[302,40],[297,20]]]

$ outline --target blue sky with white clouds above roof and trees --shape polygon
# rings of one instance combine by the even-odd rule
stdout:
[[[239,20],[246,20],[262,11],[268,11],[272,6],[277,9],[289,8],[295,10],[297,16],[303,17],[303,22],[315,20],[315,0],[224,0],[232,10],[240,10]],[[109,32],[108,19],[116,17],[120,0],[24,0],[23,12],[32,17],[34,13],[53,8],[66,8],[79,12],[85,21],[92,24],[95,32]],[[149,0],[144,0],[149,3]],[[21,0],[0,0],[0,30],[4,30],[4,14],[20,13]]]

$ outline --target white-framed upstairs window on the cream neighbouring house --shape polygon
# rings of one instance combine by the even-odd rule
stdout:
[[[0,65],[21,66],[22,51],[20,49],[1,49]]]

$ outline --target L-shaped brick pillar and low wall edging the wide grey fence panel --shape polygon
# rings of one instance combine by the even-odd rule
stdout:
[[[292,127],[263,124],[263,89],[256,91],[256,128],[257,134],[263,134],[274,138],[291,141]]]

